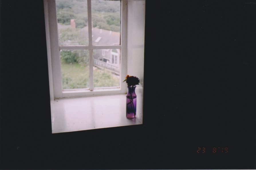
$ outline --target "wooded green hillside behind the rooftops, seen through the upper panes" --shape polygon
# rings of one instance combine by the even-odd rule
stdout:
[[[120,32],[120,1],[92,1],[93,27]],[[70,25],[75,19],[76,28],[87,26],[87,3],[82,0],[56,0],[58,23]]]

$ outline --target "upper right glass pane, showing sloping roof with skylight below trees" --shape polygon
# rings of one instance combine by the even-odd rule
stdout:
[[[121,2],[92,0],[92,44],[120,45]]]

